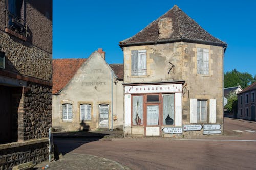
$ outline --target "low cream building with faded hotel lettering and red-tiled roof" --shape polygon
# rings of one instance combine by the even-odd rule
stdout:
[[[122,83],[123,64],[106,63],[102,49],[88,59],[54,59],[54,130],[122,129]]]

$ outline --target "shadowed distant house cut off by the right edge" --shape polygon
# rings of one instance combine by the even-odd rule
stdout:
[[[256,82],[239,92],[238,95],[238,118],[245,120],[255,119],[255,93]]]

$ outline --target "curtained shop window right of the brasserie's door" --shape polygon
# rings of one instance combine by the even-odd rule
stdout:
[[[174,124],[174,94],[163,95],[163,125]]]

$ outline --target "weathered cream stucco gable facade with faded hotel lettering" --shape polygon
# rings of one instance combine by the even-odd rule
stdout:
[[[122,79],[119,79],[115,72],[112,78],[112,69],[105,62],[104,54],[95,51],[82,63],[68,84],[53,95],[53,128],[57,131],[111,129],[113,112],[113,129],[122,129],[122,82]],[[65,104],[72,106],[72,118],[69,120],[63,119],[62,108]],[[90,105],[89,119],[82,120],[82,105]],[[108,108],[107,117],[103,122],[100,120],[101,105]]]

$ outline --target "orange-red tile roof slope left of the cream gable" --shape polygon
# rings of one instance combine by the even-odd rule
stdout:
[[[58,93],[87,59],[53,59],[52,93]]]

